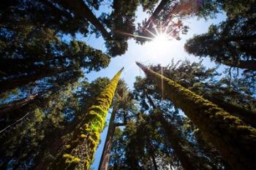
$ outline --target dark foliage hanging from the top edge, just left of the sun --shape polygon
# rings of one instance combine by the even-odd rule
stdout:
[[[125,34],[134,34],[135,11],[138,5],[138,0],[114,0],[112,12],[101,16],[100,20],[111,31],[111,39],[105,42],[109,55],[123,55],[127,51],[129,36]]]

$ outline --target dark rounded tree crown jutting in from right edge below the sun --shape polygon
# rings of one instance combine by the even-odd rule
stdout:
[[[216,63],[255,71],[255,19],[226,20],[210,26],[208,33],[194,36],[185,50]]]

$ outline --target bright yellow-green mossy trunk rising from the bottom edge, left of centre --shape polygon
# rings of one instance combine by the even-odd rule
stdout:
[[[112,102],[122,69],[113,77],[107,87],[99,93],[82,122],[75,128],[71,140],[65,142],[59,155],[50,163],[51,170],[87,170],[99,144],[99,134],[105,125],[105,117]]]

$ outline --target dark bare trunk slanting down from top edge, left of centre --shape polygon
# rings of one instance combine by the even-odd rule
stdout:
[[[96,18],[94,13],[91,12],[91,9],[84,3],[83,0],[58,0],[59,4],[62,4],[64,7],[67,7],[72,12],[75,13],[75,15],[78,15],[80,17],[86,18],[89,20],[89,22],[97,28],[102,33],[102,36],[105,39],[110,39],[111,36],[108,34],[108,31],[102,26],[102,24],[99,22],[99,20]]]

